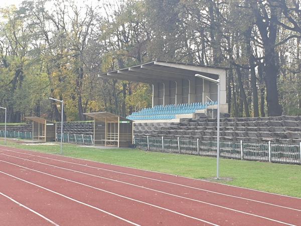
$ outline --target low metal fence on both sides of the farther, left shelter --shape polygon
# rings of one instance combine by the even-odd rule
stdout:
[[[0,137],[5,137],[5,131],[0,130]],[[32,140],[31,132],[7,131],[7,138]],[[61,134],[56,135],[56,141],[61,142]],[[92,135],[63,134],[63,142],[77,145],[93,145]]]

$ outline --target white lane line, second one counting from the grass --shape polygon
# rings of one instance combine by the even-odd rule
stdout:
[[[58,161],[58,162],[70,163],[70,164],[80,165],[80,166],[93,168],[93,169],[100,169],[100,170],[104,170],[104,171],[109,171],[109,172],[114,172],[114,173],[134,176],[134,177],[139,177],[139,178],[148,179],[148,180],[160,181],[160,182],[174,184],[174,185],[183,186],[183,187],[187,187],[187,188],[192,188],[192,189],[196,189],[196,190],[206,191],[206,192],[210,192],[210,193],[214,193],[214,194],[225,195],[225,196],[228,196],[228,197],[240,198],[240,199],[244,199],[244,200],[248,200],[248,201],[254,201],[254,202],[258,202],[258,203],[262,203],[262,204],[277,206],[277,207],[280,207],[280,208],[286,208],[286,209],[291,209],[291,210],[295,210],[295,211],[301,211],[301,209],[295,209],[295,208],[291,208],[291,207],[287,207],[287,206],[277,205],[277,204],[264,202],[264,201],[259,201],[259,200],[255,200],[255,199],[250,199],[250,198],[244,198],[244,197],[240,197],[240,196],[236,196],[236,195],[229,195],[229,194],[225,194],[225,193],[221,193],[221,192],[211,191],[211,190],[202,189],[202,188],[198,188],[198,187],[192,187],[192,186],[179,184],[179,183],[174,183],[174,182],[170,182],[170,181],[159,180],[159,179],[154,179],[154,178],[150,178],[150,177],[144,177],[144,176],[139,176],[139,175],[135,175],[135,174],[130,174],[130,173],[123,173],[123,172],[119,172],[119,171],[114,171],[114,170],[109,170],[109,169],[104,169],[104,168],[99,168],[99,167],[94,167],[94,166],[88,166],[88,165],[84,165],[84,164],[73,163],[73,162],[68,162],[68,161],[63,161],[63,160],[58,160],[58,159],[52,159],[52,158],[38,156],[38,155],[32,155],[32,154],[28,154],[28,153],[22,153],[22,152],[10,151],[10,150],[6,150],[6,151],[15,152],[15,153],[24,154],[24,155],[30,155],[30,156],[44,158],[44,159],[51,159],[51,160],[55,160],[55,161]],[[6,154],[2,154],[2,155],[6,155]]]

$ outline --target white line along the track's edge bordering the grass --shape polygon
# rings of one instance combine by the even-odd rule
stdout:
[[[3,147],[3,146],[0,146],[0,147]],[[10,148],[14,148],[14,147],[10,147]],[[163,173],[163,172],[156,172],[156,171],[152,171],[152,170],[138,169],[138,168],[129,167],[129,166],[120,166],[120,165],[116,165],[116,164],[112,164],[112,163],[97,162],[97,161],[93,161],[93,160],[89,160],[89,159],[80,159],[80,158],[76,158],[76,157],[62,156],[62,155],[52,154],[52,153],[43,153],[43,152],[33,151],[33,150],[29,150],[29,149],[21,149],[21,148],[14,148],[14,149],[21,150],[21,151],[29,151],[29,152],[32,152],[32,153],[42,153],[42,154],[47,154],[47,155],[53,155],[53,156],[56,156],[56,157],[64,157],[64,158],[67,158],[67,159],[75,159],[75,160],[80,160],[80,161],[93,162],[93,163],[104,164],[104,165],[108,165],[108,166],[117,166],[117,167],[120,167],[120,168],[129,168],[129,169],[134,169],[134,170],[137,170],[137,171],[151,172],[151,173],[158,174],[158,175],[159,174],[164,174],[164,175],[169,175],[169,176],[173,176],[173,177],[178,176],[178,175],[170,174],[170,173]],[[0,148],[0,150],[12,151],[12,150],[7,150],[7,149],[3,149],[3,148]],[[16,152],[16,151],[12,151],[12,152]],[[16,153],[30,155],[30,154],[27,154],[27,153],[24,153],[24,152],[16,152]],[[39,155],[33,155],[33,156],[42,157],[42,156],[39,156]],[[240,186],[231,185],[231,184],[222,184],[222,183],[218,183],[218,182],[215,182],[215,181],[208,181],[208,180],[204,180],[204,179],[197,179],[197,178],[191,178],[191,177],[186,177],[186,176],[178,176],[178,177],[183,177],[185,179],[190,179],[190,180],[214,183],[214,184],[217,184],[217,185],[220,185],[220,186],[236,187],[236,188],[240,188],[242,190],[251,190],[251,191],[256,191],[256,192],[259,192],[259,193],[266,193],[266,194],[272,194],[272,195],[276,195],[276,196],[283,196],[283,197],[288,197],[288,198],[292,198],[292,199],[301,199],[299,197],[293,197],[293,196],[289,196],[289,195],[277,194],[277,193],[268,192],[268,191],[260,191],[260,190],[256,190],[256,189],[252,189],[252,188],[240,187]],[[256,201],[256,200],[254,200],[254,201]]]

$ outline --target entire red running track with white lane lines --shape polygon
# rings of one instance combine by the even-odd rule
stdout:
[[[301,225],[299,198],[3,146],[0,181],[5,225]]]

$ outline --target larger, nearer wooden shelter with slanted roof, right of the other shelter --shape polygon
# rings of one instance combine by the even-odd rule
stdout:
[[[133,143],[133,122],[110,112],[84,115],[94,119],[94,145],[129,147]]]

